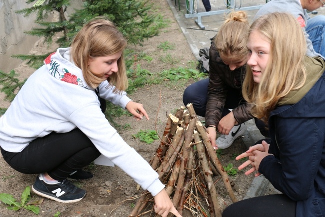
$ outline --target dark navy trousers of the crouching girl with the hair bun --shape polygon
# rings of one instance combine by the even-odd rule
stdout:
[[[184,105],[186,106],[192,103],[196,114],[202,117],[205,117],[208,84],[208,78],[195,82],[185,89],[183,95]],[[234,109],[244,103],[246,103],[246,101],[242,97],[241,89],[229,88],[222,111],[222,117],[230,113],[229,109]],[[255,123],[261,134],[265,137],[269,137],[268,129],[264,122],[255,118]]]

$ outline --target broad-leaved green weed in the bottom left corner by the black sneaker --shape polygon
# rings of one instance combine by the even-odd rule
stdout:
[[[33,203],[29,203],[30,198],[31,198],[31,196],[30,196],[30,187],[29,186],[27,186],[25,188],[25,190],[23,191],[23,193],[21,194],[21,202],[17,202],[16,199],[11,194],[0,193],[0,200],[3,203],[9,205],[7,207],[7,209],[18,211],[19,209],[24,208],[24,209],[32,211],[38,215],[39,207],[35,206],[35,205],[41,204],[43,199],[33,202]]]

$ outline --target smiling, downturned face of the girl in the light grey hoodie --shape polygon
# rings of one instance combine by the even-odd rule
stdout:
[[[122,51],[110,56],[90,57],[88,61],[89,69],[92,74],[105,81],[113,73],[118,72],[117,60],[121,56]]]

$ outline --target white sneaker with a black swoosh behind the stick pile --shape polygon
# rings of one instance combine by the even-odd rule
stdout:
[[[220,149],[228,148],[232,145],[233,141],[244,134],[246,131],[247,126],[245,123],[239,124],[237,126],[234,126],[230,132],[229,135],[224,135],[224,137],[221,135],[219,138],[217,138],[216,145]]]

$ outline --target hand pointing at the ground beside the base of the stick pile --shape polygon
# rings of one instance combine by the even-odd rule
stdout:
[[[154,197],[154,211],[162,217],[167,217],[169,212],[173,213],[176,217],[182,217],[176,210],[166,190],[163,189]]]

